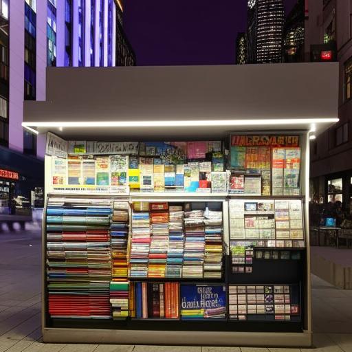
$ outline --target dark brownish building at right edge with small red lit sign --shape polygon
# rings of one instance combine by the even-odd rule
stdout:
[[[310,0],[306,4],[307,58],[337,60],[340,65],[340,121],[311,141],[311,201],[342,201],[351,210],[352,197],[352,32],[350,1]],[[329,87],[327,87],[329,89]]]

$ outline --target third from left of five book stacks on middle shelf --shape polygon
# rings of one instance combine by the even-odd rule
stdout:
[[[184,210],[182,206],[170,206],[169,214],[166,277],[181,278],[184,257]]]

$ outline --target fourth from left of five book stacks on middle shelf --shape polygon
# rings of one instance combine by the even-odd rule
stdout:
[[[203,278],[205,226],[203,210],[184,213],[185,243],[183,278]]]

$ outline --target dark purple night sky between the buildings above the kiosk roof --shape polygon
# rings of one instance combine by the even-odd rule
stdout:
[[[284,0],[286,14],[297,0]],[[124,30],[137,65],[226,65],[245,32],[247,0],[128,0]]]

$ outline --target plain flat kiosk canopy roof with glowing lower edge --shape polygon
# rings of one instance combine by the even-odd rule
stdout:
[[[65,140],[218,139],[338,121],[338,63],[50,67],[23,126]]]

